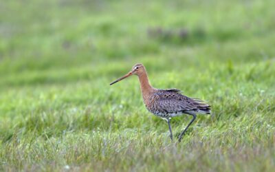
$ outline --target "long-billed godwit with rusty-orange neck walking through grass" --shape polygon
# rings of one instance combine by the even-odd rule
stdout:
[[[146,69],[142,64],[134,65],[128,74],[113,81],[110,85],[132,75],[137,75],[140,80],[140,89],[146,109],[155,116],[159,116],[167,121],[171,140],[173,140],[173,133],[170,126],[171,118],[182,114],[192,116],[192,120],[179,135],[180,142],[188,127],[196,119],[196,114],[210,114],[210,106],[204,103],[203,100],[184,96],[180,94],[181,91],[179,89],[155,89],[152,87],[148,80]]]

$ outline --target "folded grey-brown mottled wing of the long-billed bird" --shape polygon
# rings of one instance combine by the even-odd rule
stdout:
[[[210,108],[202,100],[189,98],[180,94],[178,89],[176,90],[176,92],[159,90],[159,92],[155,93],[155,106],[163,112],[197,111],[198,109]]]

